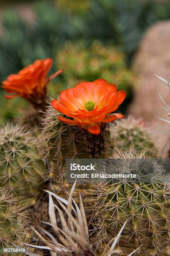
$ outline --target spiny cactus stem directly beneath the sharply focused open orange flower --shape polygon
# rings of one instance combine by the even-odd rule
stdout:
[[[104,157],[106,151],[109,151],[109,145],[107,145],[109,133],[103,127],[100,136],[92,135],[85,129],[61,123],[57,119],[59,115],[60,113],[57,113],[56,110],[49,108],[41,138],[47,148],[45,156],[50,166],[52,187],[56,192],[62,194],[72,185],[65,182],[65,159]],[[94,195],[94,185],[83,184],[78,187],[82,195]],[[92,190],[87,189],[89,187]],[[79,190],[75,190],[76,192],[78,197]]]

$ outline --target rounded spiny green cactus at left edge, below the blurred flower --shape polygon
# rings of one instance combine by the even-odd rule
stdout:
[[[45,185],[47,170],[35,138],[19,126],[0,128],[0,177],[0,187],[12,192],[22,205],[34,205]]]

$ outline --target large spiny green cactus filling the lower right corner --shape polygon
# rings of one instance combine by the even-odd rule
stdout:
[[[115,158],[136,160],[143,158],[143,154],[131,151],[125,155],[116,154]],[[99,184],[94,205],[97,212],[92,220],[97,230],[98,251],[105,248],[105,243],[116,236],[127,220],[117,245],[120,251],[117,255],[127,256],[133,251],[136,255],[169,255],[170,185],[165,184],[163,169],[155,161],[152,171],[153,179],[147,183],[140,178],[138,183]]]

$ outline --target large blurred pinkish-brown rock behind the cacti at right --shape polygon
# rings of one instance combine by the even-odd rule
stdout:
[[[165,79],[168,78],[160,71],[170,74],[170,21],[158,22],[148,29],[136,54],[134,69],[138,76],[138,87],[135,88],[129,113],[134,117],[142,117],[150,124],[153,141],[161,154],[170,137],[170,125],[159,119],[168,119],[168,113],[163,109],[157,86],[169,106],[170,95],[168,87],[153,73]],[[169,148],[168,142],[163,157],[168,156]]]

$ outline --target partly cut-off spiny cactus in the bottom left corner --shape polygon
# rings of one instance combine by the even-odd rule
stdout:
[[[31,233],[27,231],[26,220],[21,214],[20,207],[16,200],[6,190],[0,190],[0,248],[13,247],[10,242],[19,245],[20,242],[28,243],[31,240]],[[21,244],[20,244],[21,245]],[[22,246],[23,247],[23,246]],[[0,255],[8,255],[7,252],[0,251]],[[9,253],[16,255],[16,253]],[[23,253],[18,253],[18,256]]]

